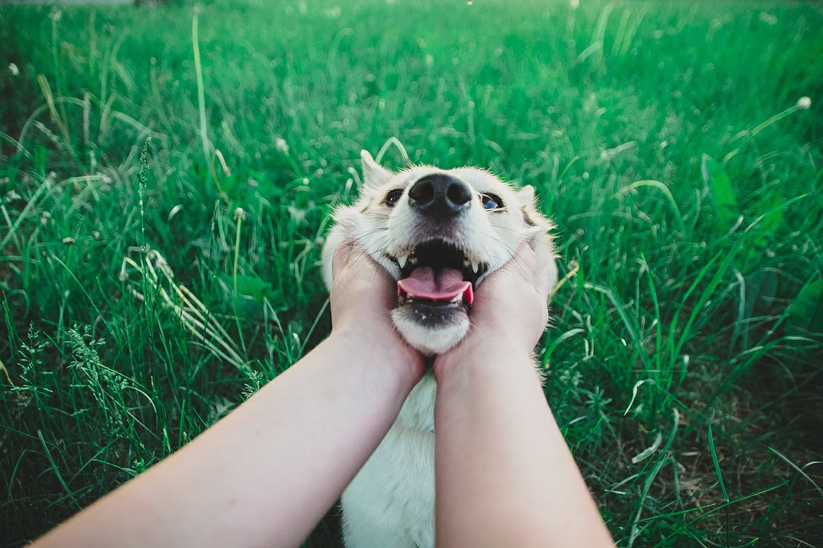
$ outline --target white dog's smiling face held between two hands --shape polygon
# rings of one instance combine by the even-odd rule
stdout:
[[[331,288],[334,248],[356,238],[398,280],[392,318],[413,347],[438,354],[465,337],[475,289],[520,242],[532,243],[556,282],[552,225],[535,209],[532,187],[515,191],[478,168],[391,173],[365,150],[361,157],[362,196],[335,212],[323,274]]]

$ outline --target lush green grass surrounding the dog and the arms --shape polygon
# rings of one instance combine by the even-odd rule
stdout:
[[[328,213],[397,137],[556,220],[546,396],[619,546],[820,546],[819,5],[302,5],[201,6],[199,63],[190,5],[0,6],[0,544],[328,333]]]

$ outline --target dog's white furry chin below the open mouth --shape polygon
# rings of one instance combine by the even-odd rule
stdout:
[[[426,356],[453,348],[463,340],[470,326],[462,303],[406,302],[392,311],[392,320],[406,342]]]

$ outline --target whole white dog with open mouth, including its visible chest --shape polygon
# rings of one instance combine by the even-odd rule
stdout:
[[[398,332],[427,357],[453,348],[472,329],[475,289],[529,242],[556,283],[551,221],[534,189],[515,190],[480,168],[417,165],[393,173],[360,153],[363,187],[354,205],[333,214],[323,247],[332,288],[332,255],[355,239],[398,281],[391,312]],[[384,440],[342,495],[347,548],[435,546],[435,380],[412,389]]]

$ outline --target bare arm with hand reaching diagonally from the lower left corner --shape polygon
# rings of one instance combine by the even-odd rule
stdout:
[[[334,257],[332,334],[215,426],[34,546],[300,546],[424,370],[393,329],[396,287]]]

